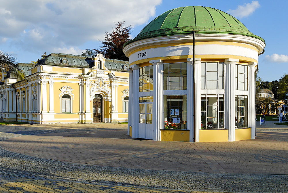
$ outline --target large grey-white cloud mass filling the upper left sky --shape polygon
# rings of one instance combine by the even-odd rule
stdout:
[[[104,39],[114,22],[144,24],[162,0],[10,0],[1,1],[0,46],[19,51],[82,53],[77,47]],[[5,40],[5,41],[3,41]],[[5,43],[6,42],[6,43]],[[74,50],[72,49],[74,48]]]

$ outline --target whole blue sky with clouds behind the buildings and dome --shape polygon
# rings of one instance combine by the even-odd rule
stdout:
[[[279,80],[288,73],[288,1],[221,0],[0,0],[0,49],[18,62],[37,60],[42,53],[81,54],[98,49],[113,22],[132,25],[132,37],[156,16],[182,6],[220,9],[240,20],[266,42],[258,76]]]

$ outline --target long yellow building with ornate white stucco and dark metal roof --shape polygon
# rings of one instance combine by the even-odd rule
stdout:
[[[19,63],[26,78],[3,72],[0,116],[39,124],[128,121],[128,62],[51,53],[36,65]]]

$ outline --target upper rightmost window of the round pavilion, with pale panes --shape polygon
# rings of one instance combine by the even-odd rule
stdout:
[[[248,90],[248,66],[236,64],[235,89],[240,91]]]

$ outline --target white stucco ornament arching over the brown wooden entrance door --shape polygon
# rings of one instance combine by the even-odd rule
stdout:
[[[109,88],[110,81],[104,82],[102,78],[98,79],[94,83],[92,83],[92,87],[90,88],[90,98],[94,98],[94,95],[97,91],[101,91],[105,94],[105,100],[111,100],[111,89]]]

